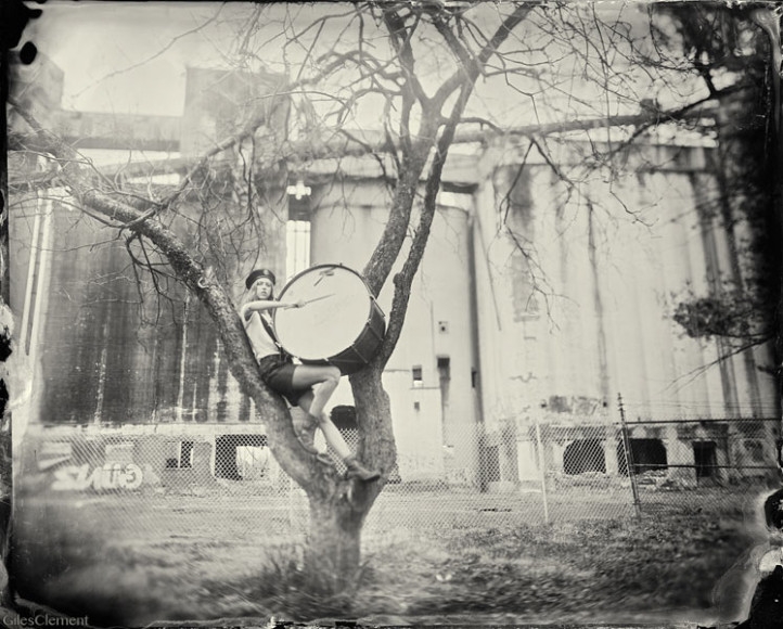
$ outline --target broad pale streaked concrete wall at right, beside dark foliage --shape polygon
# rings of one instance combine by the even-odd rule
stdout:
[[[538,474],[526,426],[617,421],[618,394],[629,421],[757,416],[776,403],[755,367],[763,350],[707,369],[718,342],[671,319],[686,291],[709,294],[732,265],[730,235],[699,209],[716,193],[703,150],[638,150],[614,175],[580,169],[580,150],[555,151],[568,189],[535,150],[521,169],[524,146],[491,147],[475,196],[483,414],[488,442],[516,423],[525,479]],[[547,447],[562,464],[566,446]],[[672,463],[693,464],[690,444],[676,450]]]

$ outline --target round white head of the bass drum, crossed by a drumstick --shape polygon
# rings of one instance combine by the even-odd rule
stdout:
[[[345,267],[324,265],[296,275],[280,293],[303,308],[278,308],[274,329],[285,350],[303,360],[326,360],[351,347],[372,308],[361,277]]]

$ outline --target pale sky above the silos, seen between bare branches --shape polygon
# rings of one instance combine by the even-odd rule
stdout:
[[[643,3],[596,2],[604,12],[619,12],[627,20],[636,35],[644,31]],[[262,9],[259,9],[262,7]],[[476,20],[482,24],[497,23],[493,3],[482,7]],[[181,116],[184,105],[185,69],[191,67],[230,67],[238,52],[244,50],[257,54],[242,57],[248,67],[287,74],[295,77],[303,66],[309,50],[307,42],[301,46],[282,43],[290,39],[292,22],[298,20],[301,29],[324,12],[345,13],[350,5],[341,2],[298,4],[279,2],[254,4],[251,2],[217,3],[202,2],[72,2],[54,0],[42,7],[42,16],[34,21],[26,34],[39,51],[50,57],[64,72],[63,107],[88,112],[114,112],[143,115]],[[245,28],[252,16],[259,11],[262,26],[244,39]],[[523,25],[524,26],[524,25]],[[329,29],[332,29],[331,31]],[[347,40],[349,34],[341,31],[342,26],[329,23],[323,40]],[[489,31],[490,26],[487,26]],[[354,29],[355,30],[355,29]],[[310,30],[313,34],[316,30]],[[372,25],[365,28],[367,46],[380,55],[388,49],[384,34],[373,34]],[[551,46],[544,33],[524,28],[516,34],[517,48]],[[418,72],[439,72],[448,61],[446,47],[435,39],[427,54],[421,55]],[[599,39],[595,39],[598,48]],[[590,48],[587,46],[586,49]],[[545,89],[537,85],[529,90],[513,90],[503,78],[479,78],[468,105],[468,114],[489,117],[502,126],[545,124],[577,116],[595,117],[602,112],[612,114],[636,113],[638,99],[631,98],[620,104],[603,93],[592,81],[583,80],[586,72],[601,73],[601,64],[588,63],[573,53],[559,55],[552,50],[525,52],[525,62],[534,62],[532,72],[544,65],[553,72],[556,80]],[[249,61],[248,61],[249,60]],[[545,62],[545,63],[542,63]],[[621,63],[621,56],[614,63]],[[536,65],[539,63],[541,65]],[[589,66],[589,67],[588,67]],[[312,70],[307,64],[305,70]],[[616,67],[613,68],[617,69]],[[601,77],[599,76],[599,80]],[[627,73],[626,81],[617,91],[628,94],[647,92],[643,76]],[[642,81],[642,82],[640,82]],[[433,82],[432,86],[435,84]],[[426,77],[425,77],[425,87]],[[323,87],[324,92],[338,93],[344,86]],[[434,89],[434,88],[432,88]],[[523,93],[524,92],[524,93]],[[685,90],[688,95],[688,90]],[[346,93],[343,92],[343,98]],[[297,97],[294,97],[296,99]],[[319,113],[333,106],[331,97],[318,101],[318,95],[308,95]],[[378,128],[381,126],[382,101],[367,100],[358,105],[346,120],[349,128]]]

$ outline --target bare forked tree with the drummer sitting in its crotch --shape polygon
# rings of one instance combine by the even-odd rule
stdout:
[[[256,10],[240,30],[240,67],[261,56],[265,41],[259,25],[264,17],[262,11]],[[624,70],[653,70],[634,61],[639,51],[631,25],[616,13],[608,21],[605,17],[589,5],[534,1],[491,7],[472,2],[335,4],[304,26],[286,14],[280,24],[285,36],[283,56],[288,52],[293,56],[296,48],[299,60],[293,79],[277,94],[297,99],[297,111],[305,120],[299,138],[278,139],[271,143],[273,151],[254,154],[254,146],[260,145],[254,140],[265,132],[266,112],[244,121],[239,131],[227,136],[196,163],[175,166],[183,172],[180,183],[157,189],[154,194],[129,183],[134,167],[124,172],[125,180],[107,177],[23,106],[16,107],[28,131],[12,137],[12,147],[47,155],[52,165],[41,185],[65,185],[85,214],[127,234],[129,252],[139,267],[152,277],[174,277],[206,308],[219,331],[232,374],[242,390],[264,409],[274,457],[309,498],[307,569],[338,575],[337,588],[359,565],[362,525],[383,482],[368,485],[346,480],[300,447],[285,405],[258,376],[227,288],[227,272],[216,264],[236,252],[234,247],[222,257],[217,255],[220,239],[214,238],[218,229],[213,222],[216,210],[231,191],[243,191],[243,196],[234,197],[241,201],[234,203],[233,222],[219,229],[230,232],[249,224],[260,234],[264,222],[254,214],[252,200],[265,180],[280,177],[275,168],[281,163],[371,154],[384,165],[392,203],[363,275],[375,295],[392,282],[393,306],[377,355],[350,376],[350,384],[359,455],[388,473],[396,449],[382,373],[400,338],[411,285],[427,247],[444,167],[454,142],[476,142],[498,133],[526,136],[557,176],[573,183],[576,175],[566,172],[549,156],[547,137],[598,129],[605,132],[608,149],[603,153],[596,150],[595,159],[608,161],[624,143],[657,125],[679,120],[697,124],[721,93],[717,90],[705,99],[640,108],[644,89],[632,85]],[[324,29],[335,24],[338,37],[332,31],[332,38],[323,41]],[[563,59],[569,60],[570,67],[561,75]],[[583,99],[574,88],[575,76],[585,77],[582,87],[592,90]],[[496,113],[483,114],[491,112],[492,104],[479,102],[472,110],[478,81],[500,81],[504,93],[514,94],[514,107],[496,107]],[[595,94],[601,97],[599,101],[593,99]],[[486,93],[479,95],[482,100]],[[383,103],[382,132],[350,131],[347,121],[352,112],[371,99]],[[541,104],[548,105],[545,112],[539,111]],[[551,112],[569,118],[557,119]],[[619,143],[609,129],[620,131]],[[254,174],[243,171],[242,164],[251,165]],[[578,193],[578,187],[572,189]],[[195,246],[185,242],[171,227],[176,219],[195,221],[203,240]],[[524,239],[517,242],[524,249]],[[206,248],[200,249],[202,245]],[[143,252],[152,252],[152,257]],[[400,262],[399,272],[392,275]]]

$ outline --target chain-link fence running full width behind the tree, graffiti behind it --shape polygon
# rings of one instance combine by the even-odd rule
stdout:
[[[356,449],[356,431],[342,431]],[[773,418],[451,426],[447,444],[399,448],[365,539],[389,529],[619,517],[707,495],[729,501],[743,486],[774,482],[779,436]],[[345,471],[320,433],[316,445]],[[232,497],[262,496],[239,500],[236,517],[248,526],[268,518],[268,532],[290,538],[307,530],[305,493],[259,425],[39,428],[26,436],[16,470],[21,514],[29,501],[88,501],[143,529],[157,526],[168,503],[213,497],[231,509]],[[190,511],[176,513],[187,527]]]

